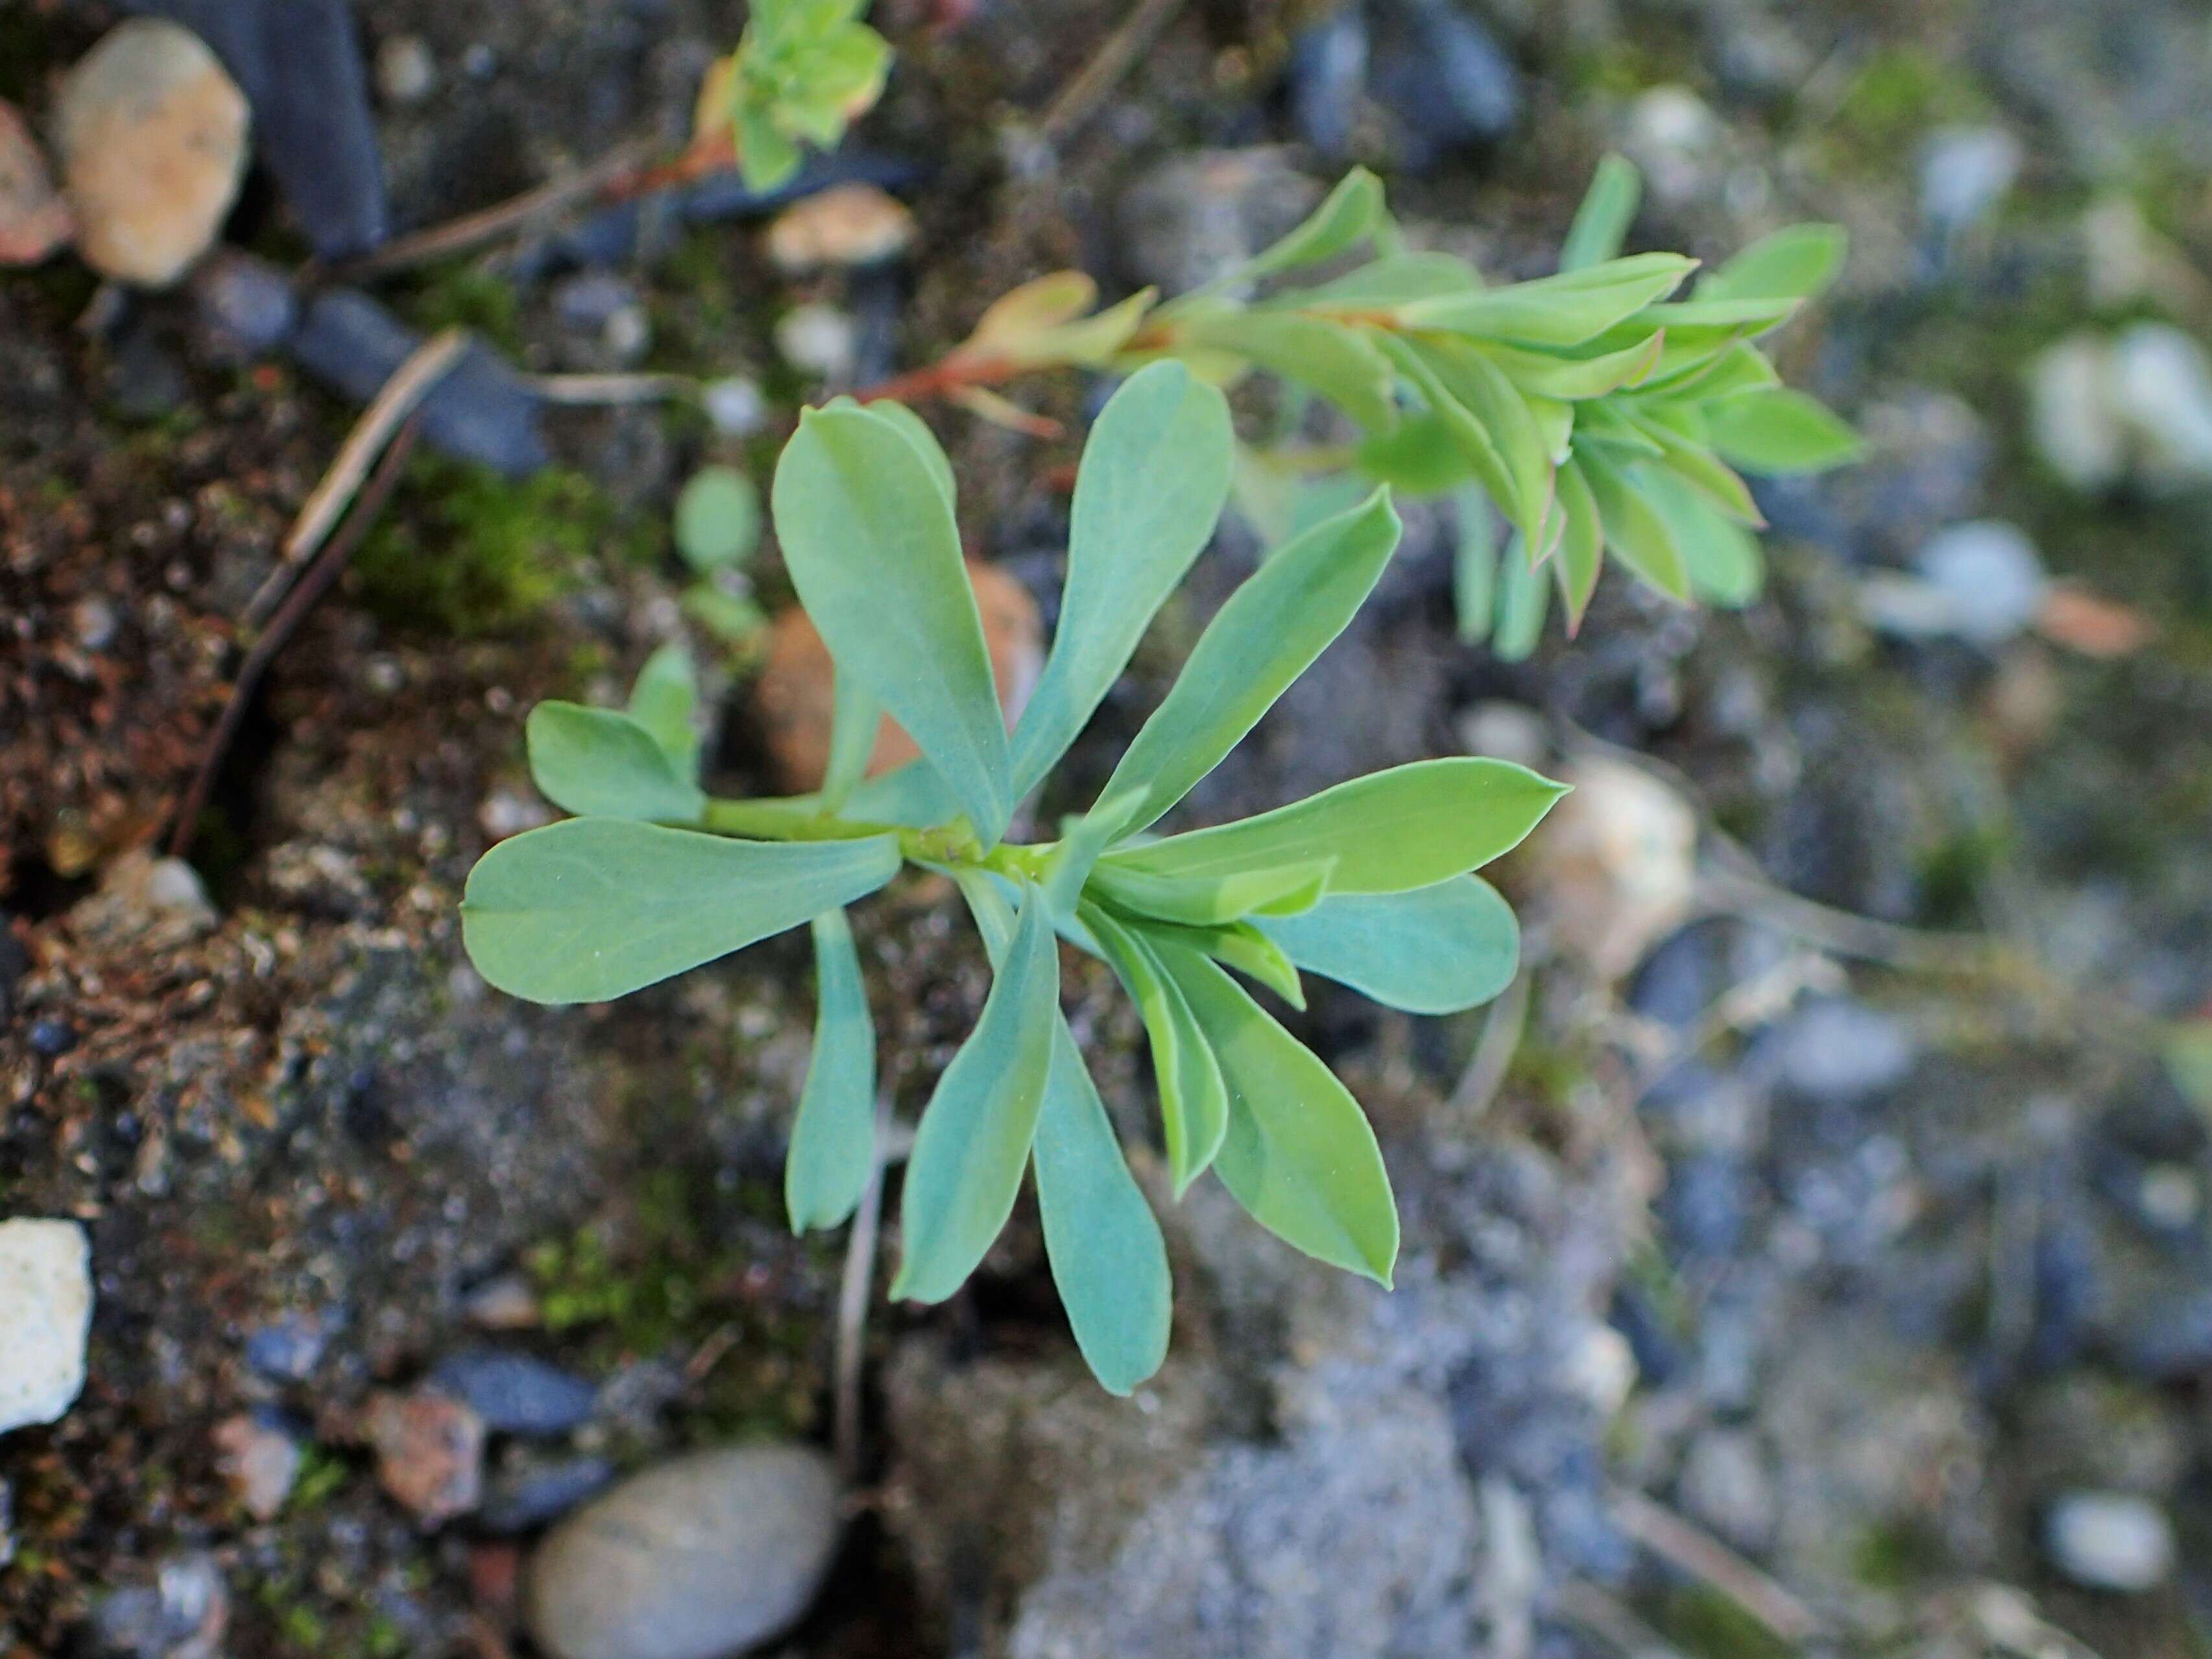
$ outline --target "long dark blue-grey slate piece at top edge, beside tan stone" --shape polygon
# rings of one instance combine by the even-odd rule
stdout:
[[[369,75],[349,0],[150,0],[223,60],[254,108],[254,153],[316,259],[392,232]]]

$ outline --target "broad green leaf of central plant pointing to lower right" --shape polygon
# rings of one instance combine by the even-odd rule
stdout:
[[[1230,1091],[1230,1128],[1214,1157],[1223,1186],[1279,1239],[1389,1285],[1398,1206],[1352,1091],[1203,956],[1166,947],[1161,960]]]

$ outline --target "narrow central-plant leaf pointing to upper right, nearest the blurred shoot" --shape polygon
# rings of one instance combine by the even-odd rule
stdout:
[[[1387,491],[1376,491],[1310,529],[1230,595],[1102,790],[1106,799],[1144,787],[1130,832],[1155,823],[1212,772],[1343,633],[1383,575],[1398,531]]]

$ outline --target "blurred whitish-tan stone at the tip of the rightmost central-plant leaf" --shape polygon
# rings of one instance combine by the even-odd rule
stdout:
[[[1690,916],[1697,814],[1659,779],[1613,759],[1575,761],[1520,867],[1557,942],[1619,980]]]

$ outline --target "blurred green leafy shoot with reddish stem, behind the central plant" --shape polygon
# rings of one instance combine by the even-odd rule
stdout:
[[[1464,259],[1409,252],[1380,181],[1354,170],[1283,241],[1199,290],[1093,310],[1091,279],[1055,272],[889,389],[1004,416],[987,387],[1046,367],[1175,358],[1219,385],[1274,374],[1365,436],[1345,451],[1248,458],[1248,482],[1318,465],[1409,495],[1460,493],[1462,630],[1502,655],[1533,648],[1548,586],[1577,628],[1606,553],[1672,599],[1741,606],[1761,586],[1763,520],[1734,469],[1823,471],[1858,453],[1851,429],[1785,389],[1754,345],[1827,288],[1845,239],[1834,226],[1781,230],[1677,301],[1694,259],[1619,257],[1639,192],[1637,170],[1608,157],[1559,274],[1486,285]],[[1369,257],[1345,268],[1363,246]],[[1316,268],[1334,274],[1279,283]],[[1321,489],[1343,500],[1334,480]],[[1484,502],[1513,531],[1504,551]],[[1279,507],[1298,520],[1298,502]]]

